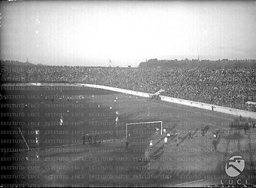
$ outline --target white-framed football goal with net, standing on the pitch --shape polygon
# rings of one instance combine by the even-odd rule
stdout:
[[[133,137],[145,137],[148,135],[154,135],[157,132],[163,135],[163,121],[150,121],[139,123],[126,123],[126,138]]]

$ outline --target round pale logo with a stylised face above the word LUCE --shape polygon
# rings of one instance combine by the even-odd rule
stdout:
[[[228,176],[236,177],[242,173],[245,168],[245,159],[242,156],[231,156],[226,162],[225,171]]]

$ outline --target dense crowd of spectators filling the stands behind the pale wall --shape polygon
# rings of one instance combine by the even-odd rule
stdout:
[[[247,110],[256,102],[253,68],[111,68],[81,66],[2,67],[8,82],[93,83]]]

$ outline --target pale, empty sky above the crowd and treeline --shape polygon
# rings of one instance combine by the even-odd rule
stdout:
[[[120,67],[198,54],[256,59],[255,1],[1,2],[1,17],[1,59]]]

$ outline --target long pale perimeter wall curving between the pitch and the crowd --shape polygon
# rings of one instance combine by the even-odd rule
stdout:
[[[3,85],[13,85],[14,83],[5,83]],[[99,88],[99,89],[106,89],[106,90],[111,90],[114,92],[123,92],[126,94],[130,94],[133,96],[142,96],[142,97],[150,97],[151,94],[150,93],[146,93],[146,92],[137,92],[137,91],[133,91],[133,90],[129,90],[129,89],[120,89],[117,87],[112,87],[112,86],[102,86],[102,85],[96,85],[96,84],[86,84],[86,83],[16,83],[15,85],[32,85],[32,86],[88,86],[88,87],[93,87],[93,88]],[[172,98],[172,97],[168,97],[168,96],[160,96],[162,101],[165,102],[173,102],[173,103],[177,103],[180,105],[187,105],[190,107],[196,107],[196,108],[203,108],[209,111],[218,111],[218,112],[222,112],[224,114],[232,114],[235,116],[242,116],[242,117],[251,117],[253,119],[256,119],[256,112],[253,111],[242,111],[239,109],[235,109],[235,108],[227,108],[227,107],[222,107],[222,106],[218,106],[218,105],[209,105],[206,103],[202,103],[202,102],[193,102],[193,101],[188,101],[188,100],[184,100],[184,99],[177,99],[177,98]]]

